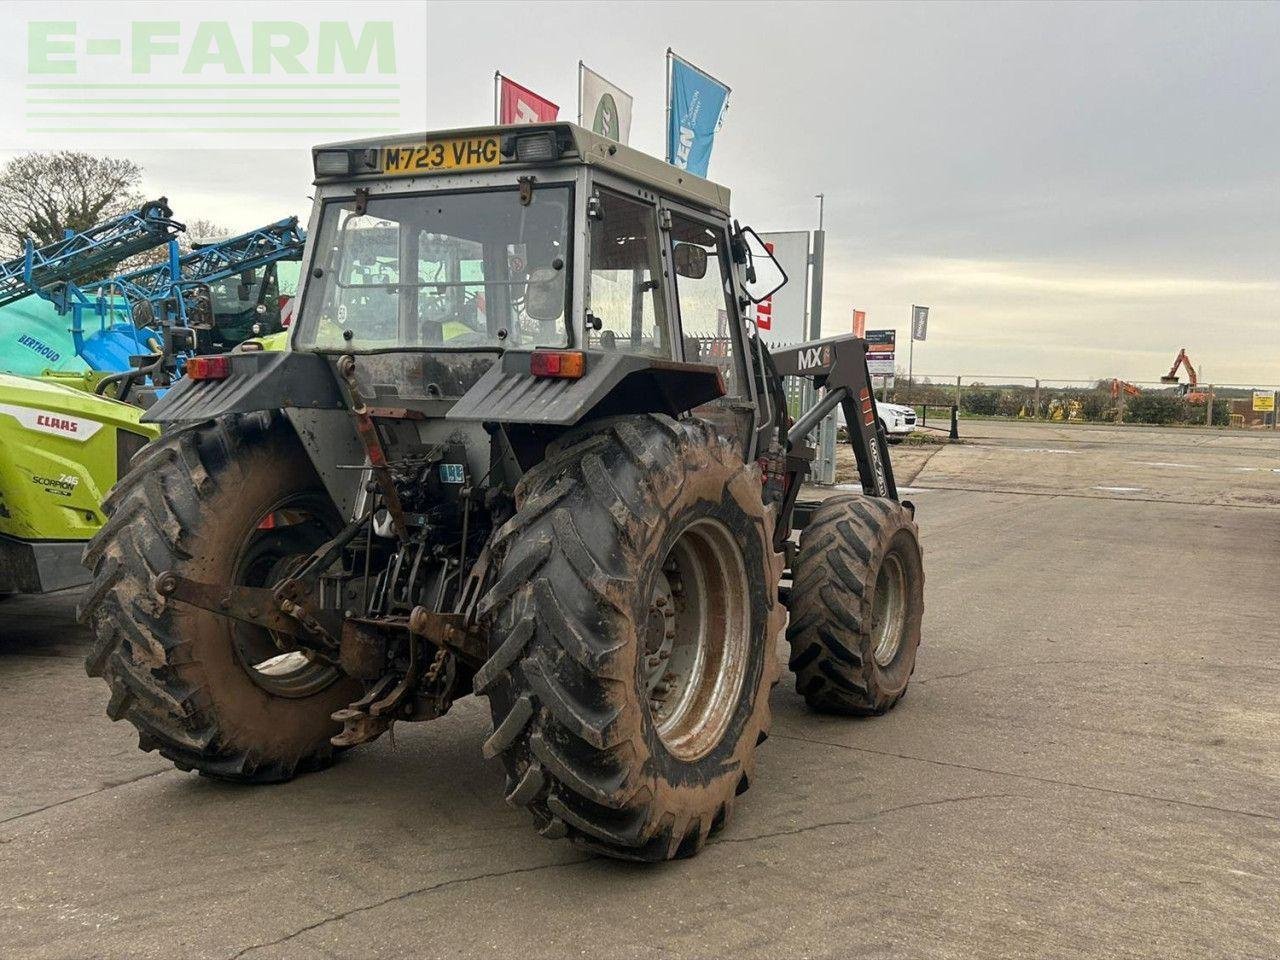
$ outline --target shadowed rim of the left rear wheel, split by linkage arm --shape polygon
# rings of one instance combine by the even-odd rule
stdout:
[[[296,571],[334,532],[330,511],[311,494],[293,494],[253,524],[237,552],[233,582],[270,588]],[[236,658],[250,678],[276,696],[310,696],[337,681],[288,635],[230,621]]]

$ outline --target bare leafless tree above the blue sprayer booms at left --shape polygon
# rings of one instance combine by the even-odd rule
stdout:
[[[0,168],[0,251],[17,256],[142,204],[142,168],[123,157],[70,150],[23,154]]]

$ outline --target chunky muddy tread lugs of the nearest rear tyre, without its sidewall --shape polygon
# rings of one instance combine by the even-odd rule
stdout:
[[[653,796],[634,773],[636,744],[620,722],[621,710],[604,695],[630,682],[621,648],[599,625],[626,616],[617,598],[628,588],[628,571],[611,559],[611,545],[632,543],[637,526],[653,526],[684,483],[684,452],[712,449],[733,463],[733,483],[754,484],[754,466],[716,430],[698,420],[666,416],[620,419],[594,428],[585,438],[552,451],[521,480],[520,509],[495,538],[503,571],[481,602],[481,620],[495,648],[476,673],[475,690],[490,698],[494,732],[486,756],[500,756],[507,769],[507,800],[527,808],[545,837],[568,837],[608,856],[664,860],[691,855],[730,818],[733,799],[750,782],[754,746],[769,726],[768,690],[780,663],[772,641],[782,632],[776,584],[780,554],[768,549],[764,576],[773,598],[765,625],[772,637],[764,653],[763,695],[756,695],[746,724],[749,750],[740,776],[718,795],[709,814],[653,819]],[[614,465],[611,472],[605,461]],[[620,477],[620,463],[630,476]],[[625,470],[625,467],[623,467]],[[662,481],[654,477],[663,475]],[[762,507],[763,511],[763,507]],[[608,521],[612,544],[589,541],[581,532],[585,512]],[[765,531],[772,543],[772,522]],[[750,678],[748,682],[754,682]]]

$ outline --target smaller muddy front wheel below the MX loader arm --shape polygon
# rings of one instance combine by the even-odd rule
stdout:
[[[906,694],[924,614],[911,513],[878,497],[823,500],[800,535],[792,573],[796,690],[822,713],[888,710]]]

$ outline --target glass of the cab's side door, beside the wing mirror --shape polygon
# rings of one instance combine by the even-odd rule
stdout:
[[[671,252],[685,360],[714,364],[724,376],[726,393],[739,394],[742,389],[737,342],[730,329],[733,287],[724,232],[672,211]]]

